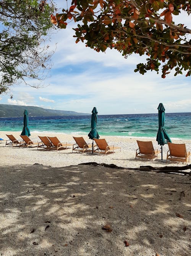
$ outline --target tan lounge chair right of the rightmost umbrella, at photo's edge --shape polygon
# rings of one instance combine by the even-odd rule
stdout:
[[[185,144],[175,144],[168,142],[169,150],[167,152],[167,160],[176,162],[189,162],[190,152],[186,152]]]

